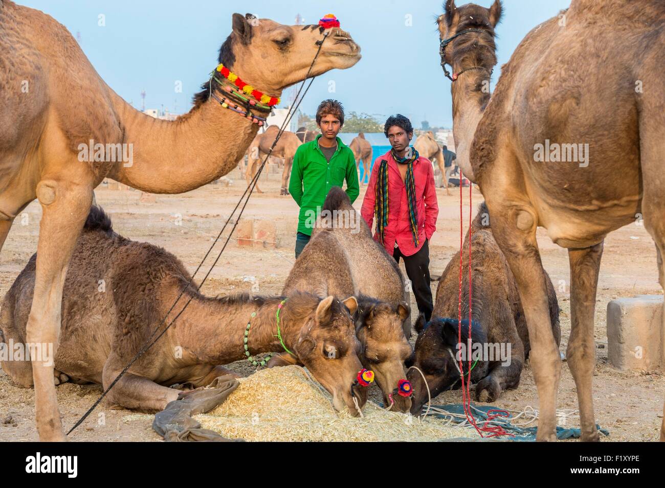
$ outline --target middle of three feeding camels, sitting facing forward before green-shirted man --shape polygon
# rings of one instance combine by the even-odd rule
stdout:
[[[325,218],[326,212],[331,212],[331,219]],[[369,228],[342,189],[331,188],[321,216],[321,227],[315,229],[293,265],[282,293],[356,295],[358,310],[354,320],[362,345],[360,361],[374,371],[385,404],[392,405],[392,410],[408,412],[410,390],[406,392],[400,386],[406,378],[404,361],[412,352],[405,336],[409,331],[406,327],[410,328],[411,309],[405,301],[402,273],[383,246],[372,239]],[[269,365],[294,363],[297,358],[283,353]]]

